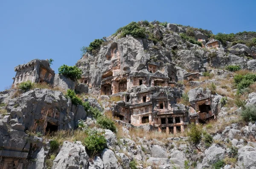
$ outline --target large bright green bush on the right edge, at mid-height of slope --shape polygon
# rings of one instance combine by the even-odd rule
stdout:
[[[243,93],[243,89],[249,87],[256,82],[256,74],[247,73],[246,75],[235,75],[234,81],[238,89],[238,93]]]

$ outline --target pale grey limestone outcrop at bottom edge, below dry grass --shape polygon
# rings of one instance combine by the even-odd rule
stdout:
[[[88,169],[89,156],[81,142],[65,141],[60,152],[53,161],[54,169]]]

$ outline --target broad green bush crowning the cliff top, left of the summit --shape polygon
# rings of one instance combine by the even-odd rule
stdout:
[[[146,29],[140,27],[139,23],[131,22],[128,25],[121,28],[120,37],[126,37],[126,35],[128,34],[133,37],[145,38],[146,37],[145,31]]]

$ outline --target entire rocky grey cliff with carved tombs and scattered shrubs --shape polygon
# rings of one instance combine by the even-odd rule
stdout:
[[[141,21],[84,48],[81,79],[38,64],[52,83],[21,90],[18,66],[0,169],[256,169],[255,37]]]

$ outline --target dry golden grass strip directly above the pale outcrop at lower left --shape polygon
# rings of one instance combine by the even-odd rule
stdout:
[[[64,141],[84,141],[87,137],[86,132],[81,130],[59,130],[53,133],[46,133],[45,139],[52,139],[58,141],[59,144],[63,144]]]

